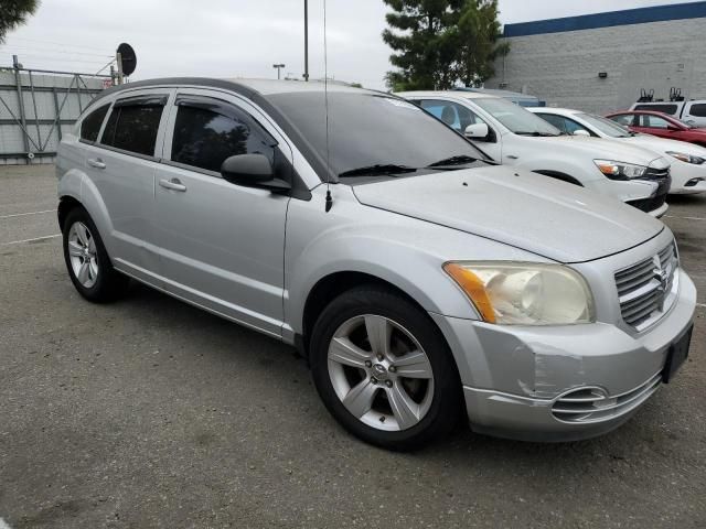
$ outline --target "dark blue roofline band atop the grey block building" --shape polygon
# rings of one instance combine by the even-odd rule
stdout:
[[[651,22],[700,18],[706,18],[706,1],[677,3],[673,6],[653,6],[624,11],[610,11],[606,13],[566,17],[563,19],[506,24],[503,36],[543,35],[546,33],[564,33],[567,31],[595,30],[617,25],[648,24]]]

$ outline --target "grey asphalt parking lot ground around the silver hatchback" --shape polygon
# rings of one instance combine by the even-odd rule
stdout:
[[[632,421],[398,454],[346,434],[276,341],[140,285],[83,301],[55,186],[0,168],[0,529],[706,527],[706,196],[664,219],[699,289],[691,358]]]

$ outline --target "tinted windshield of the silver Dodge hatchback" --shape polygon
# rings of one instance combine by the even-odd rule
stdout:
[[[441,121],[411,102],[383,94],[329,93],[329,142],[327,149],[325,102],[322,91],[267,96],[295,129],[292,140],[315,165],[322,181],[330,168],[339,176],[408,176],[442,165],[461,169],[486,160],[484,153]],[[329,163],[327,164],[327,159]],[[429,168],[429,165],[435,168]]]

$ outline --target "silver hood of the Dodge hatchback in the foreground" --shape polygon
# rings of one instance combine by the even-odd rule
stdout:
[[[664,229],[661,222],[616,198],[505,166],[431,173],[353,190],[366,206],[567,263],[618,253]]]

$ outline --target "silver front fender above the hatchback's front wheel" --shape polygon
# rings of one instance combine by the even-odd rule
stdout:
[[[314,201],[321,199],[321,188]],[[360,223],[361,214],[365,224]],[[333,219],[331,216],[344,218]],[[319,218],[320,217],[320,218]],[[321,230],[321,226],[329,226]],[[479,320],[474,306],[442,270],[449,260],[492,260],[501,250],[514,260],[545,260],[460,230],[361,204],[347,186],[336,188],[331,213],[299,207],[291,201],[287,215],[285,255],[285,321],[303,331],[309,293],[322,279],[339,272],[373,276],[403,291],[429,313]],[[287,330],[285,330],[287,331]]]

